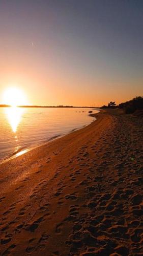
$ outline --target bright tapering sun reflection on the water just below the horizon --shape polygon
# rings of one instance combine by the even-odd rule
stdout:
[[[6,117],[11,125],[12,131],[16,133],[17,127],[21,122],[22,114],[24,113],[24,109],[17,108],[16,106],[12,106],[11,108],[5,109]],[[15,135],[15,139],[17,141],[17,136]]]

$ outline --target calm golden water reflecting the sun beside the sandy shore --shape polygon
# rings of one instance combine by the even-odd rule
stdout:
[[[0,108],[0,162],[90,124],[87,108]],[[98,111],[93,110],[93,113]],[[21,153],[20,153],[21,152]]]

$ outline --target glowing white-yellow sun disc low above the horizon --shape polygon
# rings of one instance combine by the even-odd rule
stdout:
[[[18,88],[8,88],[4,92],[4,103],[11,106],[25,105],[26,97],[22,90]]]

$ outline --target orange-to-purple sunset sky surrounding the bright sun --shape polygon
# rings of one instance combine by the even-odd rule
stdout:
[[[0,1],[0,103],[94,105],[143,95],[142,0]]]

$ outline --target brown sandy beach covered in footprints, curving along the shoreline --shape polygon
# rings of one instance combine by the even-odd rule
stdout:
[[[143,254],[143,119],[95,116],[0,165],[1,255]]]

